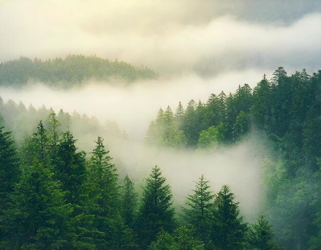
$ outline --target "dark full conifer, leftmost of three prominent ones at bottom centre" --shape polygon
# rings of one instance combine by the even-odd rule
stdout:
[[[174,209],[172,193],[169,185],[165,185],[166,178],[162,177],[160,168],[155,166],[143,190],[141,206],[139,207],[136,227],[142,248],[156,239],[161,229],[171,232],[174,225]]]

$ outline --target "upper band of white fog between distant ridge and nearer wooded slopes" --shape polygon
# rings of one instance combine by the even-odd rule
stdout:
[[[41,83],[30,83],[21,89],[0,87],[0,96],[35,108],[53,107],[56,112],[76,110],[87,116],[96,116],[100,121],[115,121],[129,137],[142,141],[152,119],[160,107],[168,105],[174,111],[178,102],[186,107],[194,99],[206,102],[211,93],[224,90],[234,92],[238,85],[248,83],[254,87],[263,78],[264,70],[232,71],[213,78],[195,74],[150,81],[137,81],[130,85],[122,82],[112,84],[85,83],[73,89],[50,88]],[[271,74],[269,72],[269,74]]]

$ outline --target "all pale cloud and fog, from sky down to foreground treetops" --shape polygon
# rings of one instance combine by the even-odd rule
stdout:
[[[183,204],[192,181],[205,174],[215,192],[231,185],[251,219],[264,199],[264,150],[253,138],[215,152],[175,151],[147,147],[145,132],[160,107],[175,110],[179,101],[186,107],[191,99],[206,102],[211,93],[228,94],[244,83],[254,87],[278,66],[311,74],[320,68],[320,27],[319,1],[0,0],[0,62],[96,54],[159,72],[157,80],[91,80],[70,89],[30,82],[20,89],[0,87],[0,96],[56,112],[76,110],[102,124],[115,121],[128,139],[106,143],[133,180],[158,165],[176,204]],[[88,151],[94,140],[81,139],[78,146]]]

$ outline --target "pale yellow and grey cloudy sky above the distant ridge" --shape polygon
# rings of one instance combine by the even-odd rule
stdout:
[[[0,61],[82,53],[161,75],[320,68],[320,1],[1,1]],[[264,73],[264,72],[262,72]]]

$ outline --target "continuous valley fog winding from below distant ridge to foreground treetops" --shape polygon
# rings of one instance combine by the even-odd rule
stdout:
[[[238,85],[248,83],[254,87],[263,77],[264,70],[233,71],[213,78],[202,78],[195,74],[160,78],[158,80],[137,81],[130,85],[114,81],[97,83],[90,81],[82,87],[72,89],[50,88],[41,83],[29,83],[21,89],[0,88],[0,95],[35,108],[43,104],[58,112],[59,109],[76,110],[87,116],[96,116],[101,124],[115,121],[125,130],[128,139],[114,138],[113,131],[82,135],[78,139],[79,149],[90,152],[96,136],[103,136],[114,163],[121,169],[121,177],[127,172],[134,181],[149,175],[151,167],[162,168],[168,183],[172,186],[175,205],[184,205],[197,178],[205,174],[215,193],[223,184],[229,184],[240,201],[242,213],[247,220],[259,214],[264,192],[260,184],[260,163],[262,151],[253,146],[253,141],[245,141],[231,148],[208,151],[176,151],[151,148],[144,144],[144,136],[149,122],[155,119],[160,107],[170,105],[175,110],[178,101],[186,107],[189,100],[206,102],[210,93],[234,92]],[[270,77],[270,75],[268,75]],[[35,125],[36,127],[36,125]],[[34,127],[34,129],[35,129]],[[73,131],[73,128],[70,128]],[[253,138],[252,138],[253,140]]]

